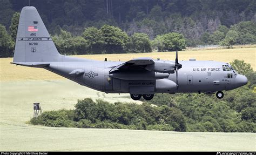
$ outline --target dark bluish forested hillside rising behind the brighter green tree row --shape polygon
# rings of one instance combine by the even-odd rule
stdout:
[[[28,1],[5,0],[1,2],[0,23],[7,28],[14,12],[19,12]],[[31,6],[50,27],[52,34],[59,29],[80,35],[83,27],[104,24],[119,26],[129,35],[147,33],[151,38],[168,31],[180,31],[185,36],[196,37],[203,32],[214,32],[219,25],[228,28],[242,21],[255,22],[255,1],[39,1],[31,0]],[[76,15],[76,16],[74,16]]]

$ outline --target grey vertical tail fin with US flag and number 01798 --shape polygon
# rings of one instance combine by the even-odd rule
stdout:
[[[45,25],[33,6],[25,6],[19,17],[14,63],[58,62],[59,54]]]

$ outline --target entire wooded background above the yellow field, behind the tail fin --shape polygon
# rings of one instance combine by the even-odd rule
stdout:
[[[0,4],[0,57],[12,57],[19,12],[28,1]],[[256,44],[254,0],[30,0],[30,5],[64,55]]]

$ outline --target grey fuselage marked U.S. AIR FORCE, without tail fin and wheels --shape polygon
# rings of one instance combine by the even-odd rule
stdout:
[[[166,61],[167,62],[167,61]],[[183,65],[176,74],[156,73],[166,75],[166,78],[151,78],[152,72],[124,72],[122,77],[109,75],[109,71],[124,62],[102,62],[88,60],[86,62],[51,62],[45,69],[69,78],[80,85],[106,93],[176,93],[176,92],[215,92],[232,90],[247,83],[245,76],[234,70],[224,71],[226,63],[214,61],[181,61]],[[230,65],[228,65],[230,66]],[[74,70],[83,70],[83,75],[70,75]],[[132,76],[131,76],[132,75]],[[144,76],[141,76],[144,75]],[[232,75],[232,76],[231,76]],[[130,76],[130,77],[129,77]],[[116,78],[117,77],[117,78]],[[134,77],[138,77],[137,79]]]

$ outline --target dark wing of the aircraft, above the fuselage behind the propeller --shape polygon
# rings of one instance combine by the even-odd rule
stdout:
[[[115,66],[109,71],[110,74],[120,71],[145,71],[146,66],[154,64],[152,58],[135,58],[131,59],[123,64]]]

